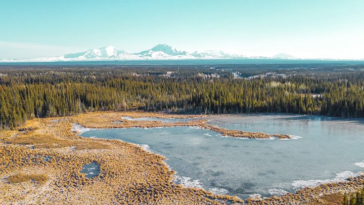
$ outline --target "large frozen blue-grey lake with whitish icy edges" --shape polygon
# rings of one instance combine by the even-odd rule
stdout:
[[[82,136],[139,144],[168,158],[176,183],[241,198],[280,195],[364,172],[364,121],[265,114],[206,119],[226,129],[294,139],[221,137],[189,127],[90,130]]]

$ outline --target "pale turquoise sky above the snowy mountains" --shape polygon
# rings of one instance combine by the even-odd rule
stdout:
[[[0,59],[104,46],[364,59],[364,1],[0,0]]]

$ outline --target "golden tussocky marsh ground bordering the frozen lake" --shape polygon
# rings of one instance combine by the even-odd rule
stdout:
[[[38,195],[30,195],[27,197],[36,198],[35,201],[47,201],[55,191],[63,190],[62,193],[74,193],[74,198],[67,198],[64,194],[60,194],[60,199],[64,201],[75,202],[77,200],[88,201],[87,195],[94,195],[104,192],[105,190],[113,190],[119,187],[115,182],[125,185],[126,187],[132,187],[131,193],[128,195],[127,201],[125,199],[122,200],[120,195],[117,199],[113,198],[114,195],[110,195],[111,192],[106,191],[101,199],[105,199],[108,201],[119,200],[119,202],[146,202],[146,201],[154,201],[156,203],[175,203],[175,202],[184,202],[184,203],[207,203],[207,204],[216,204],[221,202],[237,202],[248,204],[285,204],[285,203],[312,203],[320,200],[321,197],[327,196],[335,193],[344,193],[346,191],[352,192],[358,188],[362,188],[363,184],[361,180],[364,180],[363,175],[359,175],[355,178],[349,178],[347,181],[338,182],[338,183],[328,183],[323,184],[313,188],[303,188],[297,193],[288,193],[283,196],[273,196],[268,197],[266,199],[261,198],[250,198],[247,201],[239,199],[234,196],[226,196],[226,195],[214,195],[211,192],[207,192],[202,189],[195,188],[186,188],[180,185],[176,185],[171,180],[173,179],[174,171],[171,171],[166,164],[164,163],[165,157],[148,153],[144,149],[139,146],[132,145],[130,143],[121,142],[119,140],[106,140],[106,139],[98,139],[98,138],[85,138],[77,136],[76,134],[71,132],[72,122],[80,124],[85,128],[96,128],[96,129],[107,129],[107,128],[122,128],[124,126],[127,128],[134,125],[134,127],[140,128],[150,128],[150,127],[158,127],[160,122],[152,121],[152,122],[143,122],[143,121],[133,121],[127,122],[127,124],[120,123],[120,125],[112,125],[112,121],[120,121],[121,115],[127,114],[128,116],[133,118],[138,117],[161,117],[161,118],[178,118],[179,116],[182,118],[186,115],[169,115],[162,113],[154,113],[150,112],[94,112],[94,113],[85,113],[70,117],[57,117],[57,118],[41,118],[41,119],[32,119],[27,121],[26,126],[24,128],[19,129],[17,131],[2,131],[2,137],[0,138],[1,146],[3,150],[6,152],[2,153],[3,155],[8,156],[8,158],[19,158],[22,159],[26,155],[36,155],[43,154],[47,156],[53,157],[49,162],[37,161],[33,164],[31,161],[22,162],[16,160],[16,163],[10,164],[9,161],[5,159],[2,160],[2,164],[8,164],[8,168],[4,169],[0,175],[0,183],[4,186],[1,186],[0,190],[5,188],[5,190],[12,190],[12,193],[6,193],[2,190],[2,195],[0,195],[0,201],[7,200],[13,198],[13,202],[21,202],[22,198],[22,189],[40,191],[39,189],[43,189],[43,194]],[[152,116],[153,115],[153,116]],[[138,116],[138,117],[137,117]],[[188,117],[201,117],[201,115],[188,115]],[[186,117],[187,118],[187,117]],[[56,121],[51,121],[56,120]],[[57,121],[58,120],[58,121]],[[124,122],[124,121],[123,121]],[[184,122],[185,123],[185,122]],[[194,122],[196,123],[196,122]],[[198,125],[204,124],[204,121],[199,121]],[[85,126],[86,125],[86,126]],[[168,124],[167,127],[172,127],[179,125],[177,124]],[[191,125],[191,124],[182,124],[182,125]],[[130,127],[129,127],[130,128]],[[209,127],[210,128],[210,127]],[[25,130],[25,131],[24,131]],[[211,128],[209,129],[211,130]],[[226,129],[225,129],[226,130]],[[67,140],[68,144],[72,145],[71,147],[57,147],[53,146],[51,148],[37,148],[34,145],[37,145],[37,142],[33,142],[31,144],[19,144],[16,139],[20,136],[33,136],[33,135],[46,135],[52,136],[57,139]],[[10,139],[15,139],[9,143]],[[78,148],[78,142],[89,143],[89,147],[84,147],[82,149]],[[47,142],[44,142],[47,143]],[[72,143],[75,143],[73,146]],[[68,146],[67,144],[67,146]],[[19,153],[14,153],[11,150],[21,150]],[[18,156],[19,155],[19,156]],[[24,156],[23,156],[24,155]],[[22,156],[22,157],[21,157]],[[126,159],[125,159],[126,157]],[[5,157],[6,158],[6,157]],[[59,160],[57,160],[59,159]],[[71,162],[72,160],[73,162]],[[128,162],[130,160],[130,162]],[[64,161],[64,162],[62,162]],[[95,179],[86,179],[82,174],[79,173],[80,166],[82,163],[87,163],[91,161],[96,161],[100,164],[100,176]],[[71,162],[71,163],[70,163]],[[68,166],[66,163],[70,163],[72,166]],[[129,168],[125,168],[125,165],[129,164]],[[59,169],[59,166],[65,166],[65,173],[62,173],[63,169]],[[131,166],[131,167],[130,167]],[[49,181],[44,184],[38,184],[37,182],[23,182],[22,184],[9,184],[7,182],[7,177],[11,176],[15,173],[24,172],[23,168],[26,167],[25,172],[27,173],[47,173],[49,176]],[[122,170],[120,170],[120,167]],[[142,176],[140,172],[149,173],[146,176]],[[76,175],[74,174],[76,173]],[[134,174],[133,174],[134,173]],[[68,176],[61,177],[60,176]],[[129,179],[127,181],[122,180],[126,178],[130,178],[133,176],[133,179]],[[114,177],[111,177],[114,176]],[[152,177],[153,176],[153,177]],[[71,185],[70,180],[74,185]],[[120,181],[121,180],[121,181]],[[130,180],[134,180],[134,182],[130,182]],[[146,184],[145,180],[148,182]],[[57,182],[57,183],[54,183]],[[137,182],[137,183],[135,183]],[[25,183],[25,184],[24,184]],[[33,183],[36,186],[33,186]],[[131,183],[131,184],[130,184]],[[82,185],[83,184],[83,185]],[[93,190],[95,185],[100,185],[100,188]],[[110,184],[113,185],[110,187]],[[149,184],[149,185],[148,185]],[[152,184],[152,188],[151,187]],[[58,186],[61,185],[61,186]],[[162,186],[161,186],[162,185]],[[60,188],[62,186],[66,186],[68,188],[63,189]],[[156,188],[154,190],[154,188]],[[152,193],[156,195],[152,196],[143,196],[138,194],[138,190],[152,190]],[[154,191],[153,191],[154,190]],[[126,190],[125,190],[126,191]],[[129,192],[129,191],[128,191]],[[159,196],[158,193],[164,192],[167,197]],[[78,196],[76,194],[84,193],[85,196]],[[126,192],[125,192],[126,193]],[[125,194],[124,193],[124,194]],[[47,195],[48,194],[48,195]],[[181,196],[177,196],[181,195]],[[65,197],[65,198],[64,198]],[[105,198],[106,197],[106,198]],[[113,198],[113,199],[110,199]],[[15,201],[17,199],[17,201]],[[19,199],[19,200],[18,200]],[[54,199],[54,198],[53,198]],[[171,201],[173,199],[173,202]],[[23,199],[24,200],[24,199]],[[94,200],[92,200],[95,202]],[[97,200],[96,200],[97,201]],[[91,201],[90,201],[91,202]]]

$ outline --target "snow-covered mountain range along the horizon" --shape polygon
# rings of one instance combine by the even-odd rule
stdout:
[[[195,51],[189,53],[177,50],[165,44],[159,44],[149,50],[139,53],[130,53],[125,50],[117,50],[113,46],[100,49],[92,49],[79,53],[65,54],[57,57],[35,59],[0,59],[0,62],[55,62],[55,61],[110,61],[110,60],[186,60],[186,59],[296,59],[289,54],[281,53],[272,57],[247,57],[239,54],[223,51]]]

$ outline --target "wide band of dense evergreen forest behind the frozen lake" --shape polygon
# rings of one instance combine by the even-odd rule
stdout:
[[[241,76],[275,70],[240,69]],[[320,69],[319,69],[320,70]],[[364,117],[364,71],[286,69],[234,78],[233,68],[0,69],[0,128],[95,110],[280,112]],[[283,75],[282,75],[283,74]]]

